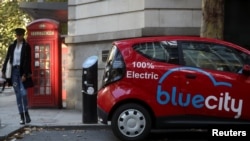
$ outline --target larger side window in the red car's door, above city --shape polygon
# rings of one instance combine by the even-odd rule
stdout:
[[[234,48],[203,42],[181,42],[186,66],[238,73],[249,56]]]

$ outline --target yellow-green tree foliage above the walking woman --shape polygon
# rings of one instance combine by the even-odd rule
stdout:
[[[3,63],[7,48],[15,39],[14,29],[17,27],[26,28],[31,17],[19,8],[18,0],[0,1],[0,64]]]

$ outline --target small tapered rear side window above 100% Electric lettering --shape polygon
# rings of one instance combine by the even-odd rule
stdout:
[[[176,41],[146,42],[136,44],[133,48],[136,52],[151,60],[179,64]]]

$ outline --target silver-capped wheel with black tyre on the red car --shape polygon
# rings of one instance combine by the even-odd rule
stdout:
[[[117,108],[111,127],[114,135],[120,140],[143,140],[150,132],[151,117],[143,106],[129,103]]]

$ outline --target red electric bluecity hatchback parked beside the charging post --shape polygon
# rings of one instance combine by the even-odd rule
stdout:
[[[121,140],[151,129],[250,123],[250,51],[191,36],[115,41],[97,95],[98,117]]]

